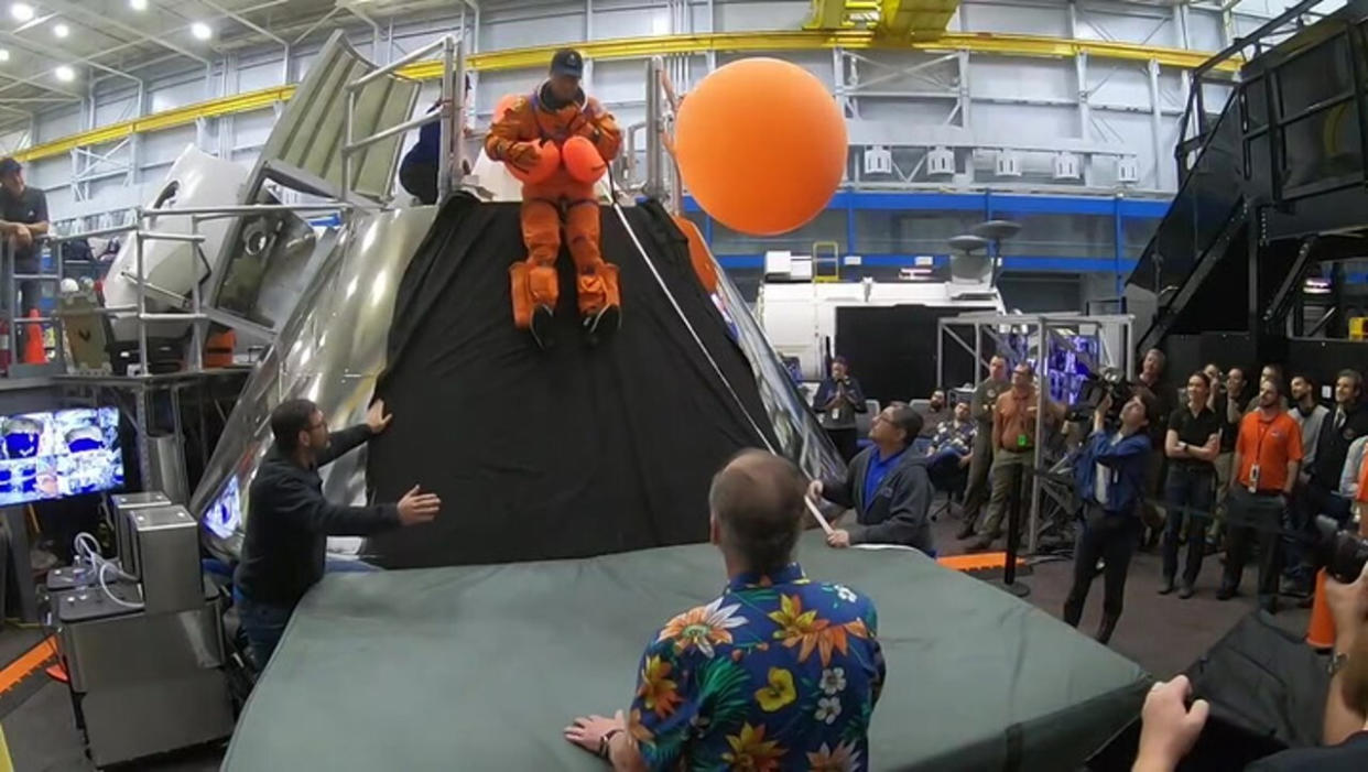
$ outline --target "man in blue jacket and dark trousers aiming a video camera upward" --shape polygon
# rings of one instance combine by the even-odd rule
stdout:
[[[1064,621],[1078,627],[1083,601],[1097,572],[1097,560],[1105,558],[1103,620],[1097,641],[1111,641],[1120,619],[1126,594],[1126,571],[1140,542],[1140,502],[1145,494],[1145,460],[1149,456],[1148,405],[1134,396],[1120,409],[1120,427],[1105,426],[1111,397],[1105,397],[1093,415],[1093,433],[1074,467],[1078,497],[1082,500],[1082,523],[1074,548],[1074,586],[1064,601]]]

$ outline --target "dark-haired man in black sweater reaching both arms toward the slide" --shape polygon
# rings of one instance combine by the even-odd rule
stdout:
[[[248,532],[234,600],[256,664],[264,668],[300,598],[323,578],[328,537],[367,537],[436,517],[442,501],[417,486],[398,504],[343,506],[323,497],[319,467],[390,426],[376,400],[365,423],[328,433],[319,407],[290,400],[271,411],[275,445],[248,494]]]

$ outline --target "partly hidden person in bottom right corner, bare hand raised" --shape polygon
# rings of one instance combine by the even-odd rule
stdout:
[[[1330,689],[1321,724],[1324,747],[1275,753],[1246,772],[1360,772],[1368,769],[1368,564],[1353,583],[1330,578],[1326,604],[1335,620]],[[1192,695],[1187,676],[1156,683],[1141,713],[1140,753],[1133,772],[1172,772],[1197,743],[1211,706]]]

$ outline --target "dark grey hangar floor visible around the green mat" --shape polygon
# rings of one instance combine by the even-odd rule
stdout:
[[[936,523],[937,545],[943,554],[962,552],[953,539],[958,522]],[[1141,553],[1131,564],[1126,584],[1126,610],[1112,638],[1112,647],[1140,662],[1159,678],[1168,678],[1186,669],[1205,653],[1237,620],[1253,610],[1248,595],[1219,602],[1215,598],[1220,563],[1208,558],[1197,583],[1197,595],[1187,601],[1176,595],[1156,594],[1160,579],[1157,553]],[[1073,578],[1073,564],[1051,561],[1036,565],[1021,578],[1030,587],[1027,602],[1060,616],[1064,595]],[[1245,584],[1253,587],[1253,572],[1246,572]],[[1097,627],[1101,608],[1101,579],[1094,582],[1083,613],[1082,631],[1092,634]],[[1305,631],[1309,612],[1285,610],[1278,615],[1289,630]],[[5,628],[0,632],[0,662],[12,661],[41,641],[33,630]],[[34,676],[47,679],[45,675]],[[26,697],[18,705],[5,705],[0,695],[0,725],[10,743],[14,768],[23,772],[86,772],[94,767],[85,758],[81,736],[71,717],[71,702],[64,684],[48,682],[29,684],[27,694],[16,687],[15,697]],[[149,760],[130,767],[146,772],[201,772],[218,769],[222,747],[197,749],[174,757]]]

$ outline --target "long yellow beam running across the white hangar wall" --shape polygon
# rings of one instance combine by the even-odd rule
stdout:
[[[561,44],[564,45],[564,44]],[[551,53],[561,45],[542,45],[535,48],[517,48],[495,51],[490,53],[472,53],[466,57],[466,66],[475,71],[488,73],[501,70],[523,70],[546,67]],[[1187,51],[1183,48],[1156,48],[1137,45],[1131,42],[1111,42],[1099,40],[1066,40],[1057,37],[1027,36],[1027,34],[999,34],[999,33],[940,33],[932,38],[893,40],[877,34],[874,30],[792,30],[792,31],[761,31],[761,33],[710,33],[710,34],[679,34],[679,36],[647,36],[617,40],[595,40],[576,44],[588,59],[642,59],[646,56],[668,53],[705,53],[709,51],[733,53],[766,53],[785,51],[829,51],[832,48],[847,48],[852,51],[925,51],[948,52],[969,51],[971,53],[989,53],[997,56],[1030,56],[1030,57],[1070,57],[1078,53],[1100,59],[1129,60],[1129,62],[1159,62],[1163,67],[1192,68],[1207,60],[1208,52]],[[1216,70],[1238,71],[1242,60],[1231,59],[1216,66]],[[399,73],[415,79],[434,79],[442,74],[440,62],[419,62],[410,64]],[[133,134],[161,131],[178,126],[192,125],[201,118],[219,118],[238,112],[264,110],[278,101],[286,101],[294,96],[294,86],[272,86],[256,92],[246,92],[220,99],[212,99],[196,104],[187,104],[174,110],[111,123],[62,137],[51,142],[34,145],[15,153],[22,162],[59,156],[75,148],[88,148],[116,142]]]

